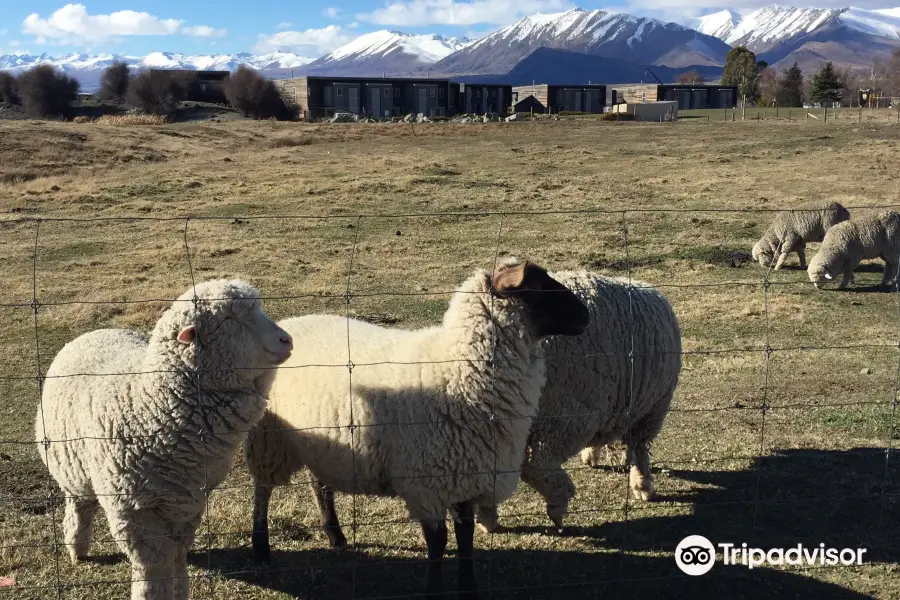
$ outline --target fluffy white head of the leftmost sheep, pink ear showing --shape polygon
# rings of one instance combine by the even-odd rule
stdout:
[[[215,285],[218,284],[218,285]],[[243,282],[207,282],[183,298],[193,300],[176,324],[177,342],[189,363],[221,378],[255,379],[286,361],[293,340],[263,312],[259,292]]]

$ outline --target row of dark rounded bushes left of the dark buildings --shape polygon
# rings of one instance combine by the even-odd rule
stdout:
[[[0,71],[0,103],[19,105],[35,118],[68,118],[78,98],[76,79],[51,65],[38,65],[19,76]],[[146,114],[171,116],[185,101],[229,104],[254,119],[291,119],[275,83],[241,65],[216,86],[204,86],[194,71],[133,73],[124,62],[107,67],[100,79],[99,98]]]

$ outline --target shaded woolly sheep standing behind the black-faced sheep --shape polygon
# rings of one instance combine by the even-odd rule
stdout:
[[[583,462],[599,466],[599,451],[624,440],[631,491],[652,498],[650,444],[678,384],[681,329],[669,301],[647,283],[584,271],[551,276],[591,313],[582,335],[542,344],[547,383],[522,464],[522,481],[544,497],[547,515],[561,528],[575,496],[562,464],[579,451]],[[480,505],[477,515],[485,531],[499,528],[496,505]]]

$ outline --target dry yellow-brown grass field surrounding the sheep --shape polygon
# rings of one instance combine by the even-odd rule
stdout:
[[[33,443],[35,375],[66,341],[148,329],[158,300],[187,289],[191,272],[250,279],[276,318],[343,314],[349,282],[352,314],[418,327],[436,323],[454,285],[498,252],[660,286],[687,354],[653,448],[660,501],[626,500],[627,476],[571,461],[578,496],[564,534],[523,488],[501,507],[510,531],[476,535],[485,597],[900,597],[898,295],[874,287],[880,265],[864,265],[850,291],[822,292],[795,258],[768,284],[747,262],[766,211],[830,199],[862,215],[897,203],[898,134],[889,117],[0,123],[0,578],[16,582],[0,599],[127,596],[128,565],[104,522],[95,561],[72,567],[53,552],[59,511],[48,510]],[[424,542],[399,501],[340,497],[355,545],[330,551],[302,477],[276,492],[274,563],[260,569],[248,483],[238,459],[212,494],[191,555],[194,597],[421,589]],[[691,578],[672,554],[689,534],[862,547],[867,562],[717,565]],[[450,561],[451,589],[453,573]]]

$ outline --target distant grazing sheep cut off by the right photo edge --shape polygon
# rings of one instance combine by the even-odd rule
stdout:
[[[884,261],[881,285],[897,281],[900,267],[900,213],[885,211],[835,225],[825,234],[819,252],[809,262],[809,280],[817,288],[843,273],[838,286],[853,280],[853,270],[863,260]]]

